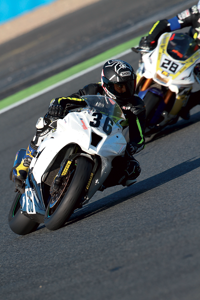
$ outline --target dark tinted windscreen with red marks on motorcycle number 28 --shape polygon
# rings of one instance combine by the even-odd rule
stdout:
[[[199,46],[186,33],[173,33],[169,39],[167,52],[172,58],[177,60],[186,60],[199,49]]]

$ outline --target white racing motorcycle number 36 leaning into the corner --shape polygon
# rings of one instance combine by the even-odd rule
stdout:
[[[53,118],[57,129],[33,153],[26,181],[14,181],[16,197],[8,221],[19,235],[36,230],[40,223],[50,230],[61,227],[76,208],[97,190],[103,191],[113,158],[124,155],[121,108],[106,96],[82,99],[87,107],[70,105],[64,116]],[[14,166],[25,152],[17,152]]]

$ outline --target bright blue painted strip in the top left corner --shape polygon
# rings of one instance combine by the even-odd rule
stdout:
[[[41,5],[49,4],[55,0],[1,0],[0,23],[8,21]]]

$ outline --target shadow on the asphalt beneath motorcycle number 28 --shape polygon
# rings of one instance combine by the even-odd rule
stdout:
[[[190,120],[186,121],[181,119],[180,121],[178,121],[176,124],[174,125],[170,125],[170,126],[166,126],[166,128],[164,128],[162,131],[160,131],[159,133],[157,133],[156,135],[154,135],[154,137],[148,141],[146,144],[151,143],[155,140],[160,139],[161,137],[165,137],[175,131],[179,131],[183,128],[186,128],[190,125],[193,125],[197,122],[200,121],[200,112],[193,114],[192,116],[190,116]]]

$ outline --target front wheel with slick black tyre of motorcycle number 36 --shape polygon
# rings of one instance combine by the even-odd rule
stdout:
[[[50,230],[60,228],[70,218],[85,193],[91,175],[92,164],[88,158],[80,156],[71,165],[46,208],[44,224]]]

